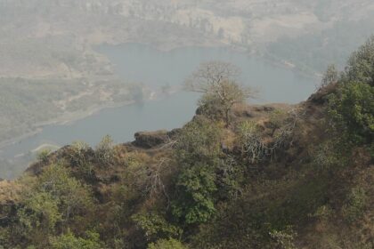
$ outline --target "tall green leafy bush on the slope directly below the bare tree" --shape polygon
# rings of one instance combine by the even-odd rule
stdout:
[[[180,173],[172,213],[185,224],[207,222],[215,213],[219,128],[203,118],[187,124],[178,138],[175,157]]]

